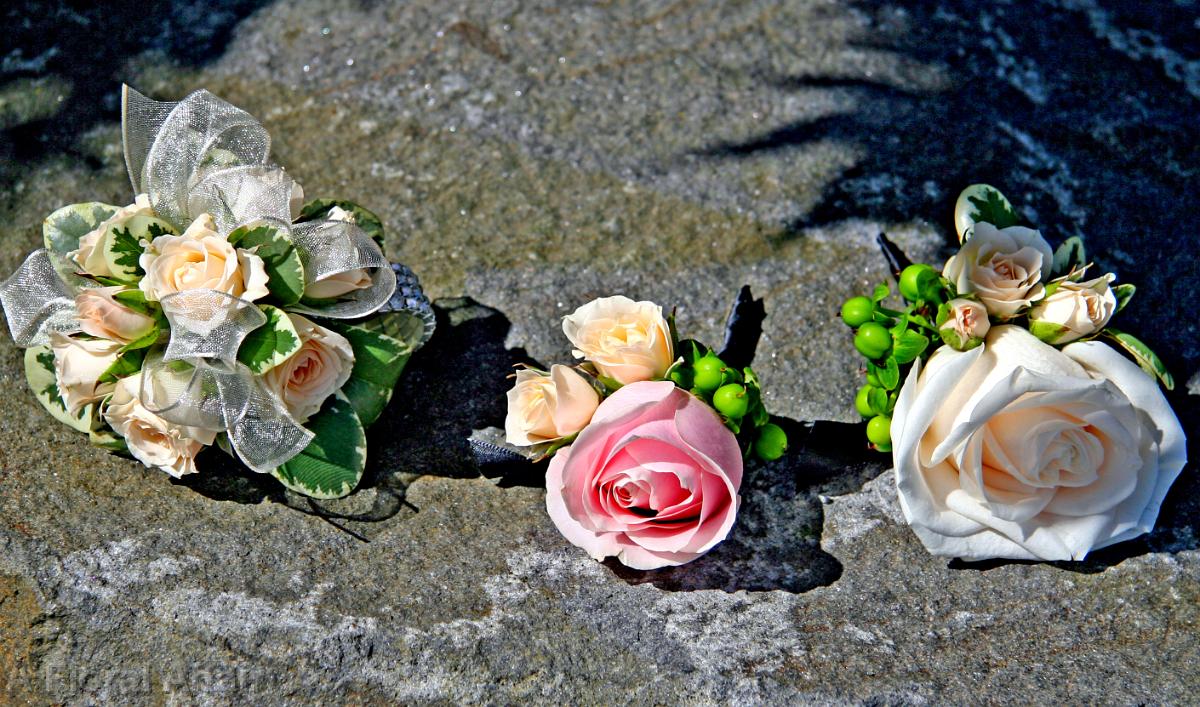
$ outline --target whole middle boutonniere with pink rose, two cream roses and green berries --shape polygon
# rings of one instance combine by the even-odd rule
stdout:
[[[563,331],[583,363],[517,371],[505,419],[509,444],[552,456],[554,525],[593,558],[634,569],[708,552],[733,527],[744,457],[787,448],[754,370],[679,341],[649,301],[594,300]]]

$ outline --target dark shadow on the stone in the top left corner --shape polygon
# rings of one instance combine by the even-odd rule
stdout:
[[[263,5],[265,0],[6,4],[0,10],[0,91],[19,90],[38,108],[25,115],[0,112],[0,179],[6,163],[29,164],[53,152],[78,155],[80,133],[101,121],[119,121],[121,82],[139,54],[158,52],[174,64],[202,66],[221,55],[238,23]],[[47,79],[54,79],[53,88]]]

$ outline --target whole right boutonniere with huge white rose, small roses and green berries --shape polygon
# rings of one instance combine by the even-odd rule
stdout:
[[[1134,287],[1087,278],[1078,236],[1051,250],[1018,222],[973,185],[941,272],[881,238],[905,306],[880,284],[842,307],[868,360],[854,405],[930,552],[1082,559],[1153,529],[1187,445],[1162,360],[1109,325]]]

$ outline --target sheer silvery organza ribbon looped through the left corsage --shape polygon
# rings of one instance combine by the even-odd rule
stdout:
[[[412,271],[391,265],[361,228],[332,220],[293,223],[302,190],[270,162],[270,136],[252,115],[205,90],[161,102],[124,86],[121,122],[134,193],[148,194],[155,214],[178,230],[202,214],[210,214],[222,234],[265,221],[293,241],[306,284],[358,269],[371,276],[370,287],[335,302],[288,310],[340,319],[408,311],[425,324],[418,346],[432,335],[433,311]],[[17,344],[40,346],[52,332],[79,331],[76,294],[47,251],[35,251],[0,283]],[[143,405],[168,421],[228,432],[238,456],[257,472],[299,454],[312,433],[236,358],[246,335],[266,322],[263,312],[208,289],[175,293],[161,305],[170,341],[143,364]]]

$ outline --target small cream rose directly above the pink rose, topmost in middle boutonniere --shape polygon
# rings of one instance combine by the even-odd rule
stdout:
[[[563,319],[563,332],[575,358],[623,385],[661,378],[674,363],[671,328],[654,302],[622,295],[592,300]]]

